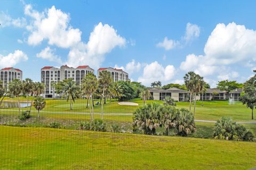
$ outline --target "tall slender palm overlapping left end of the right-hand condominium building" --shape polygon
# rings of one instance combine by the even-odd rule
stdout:
[[[112,78],[108,71],[101,71],[99,74],[99,84],[103,87],[101,98],[101,119],[103,119],[103,100],[105,99],[105,89],[111,84]]]

